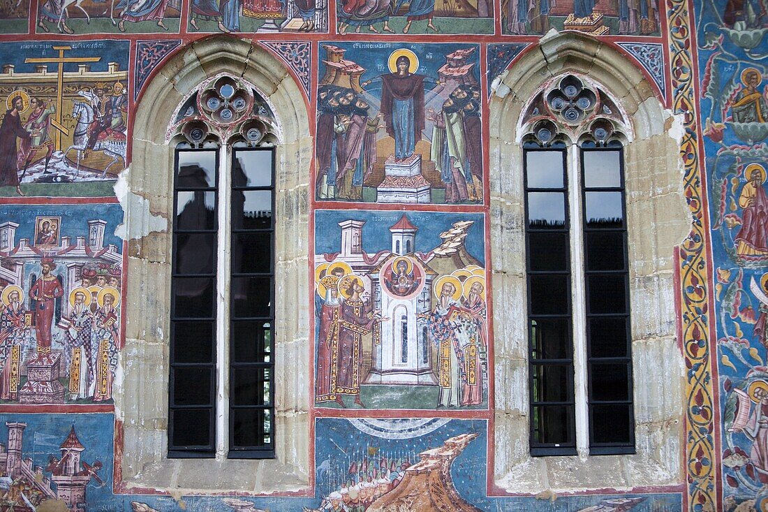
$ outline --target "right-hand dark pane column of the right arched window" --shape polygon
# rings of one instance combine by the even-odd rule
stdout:
[[[581,171],[590,450],[592,454],[632,453],[634,404],[623,151],[583,149]]]

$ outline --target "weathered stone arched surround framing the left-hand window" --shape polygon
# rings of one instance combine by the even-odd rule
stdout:
[[[178,121],[174,115],[184,98],[199,85],[223,76],[253,86],[273,109],[276,127],[265,135],[273,137],[270,143],[276,146],[276,297],[282,299],[276,303],[274,460],[165,457],[175,146],[170,140],[175,132],[167,129]],[[211,111],[221,118],[217,108]],[[313,147],[309,126],[300,86],[256,42],[228,36],[192,42],[169,58],[147,84],[134,115],[131,165],[120,185],[129,234],[127,325],[118,371],[122,382],[115,394],[123,433],[122,449],[118,446],[116,450],[122,487],[254,493],[309,487],[309,311],[302,308],[297,312],[293,307],[309,296],[310,175],[306,170]],[[243,137],[247,138],[247,130]],[[120,474],[118,469],[116,473]]]

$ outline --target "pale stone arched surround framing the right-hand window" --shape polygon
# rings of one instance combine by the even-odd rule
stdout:
[[[581,449],[572,457],[531,457],[528,393],[515,392],[528,389],[522,142],[535,133],[536,122],[558,118],[557,111],[568,108],[564,101],[568,98],[562,97],[568,95],[559,86],[569,76],[590,84],[598,95],[604,91],[621,113],[621,118],[603,117],[613,128],[621,128],[624,143],[637,450],[633,455],[589,457]],[[495,387],[496,446],[508,447],[495,453],[495,486],[525,494],[548,489],[673,486],[683,478],[685,411],[674,254],[691,221],[677,141],[682,135],[680,121],[664,110],[653,85],[633,62],[608,43],[575,32],[545,35],[494,88],[489,104],[489,183],[495,381],[513,383]],[[558,88],[560,95],[548,97]],[[558,107],[554,115],[548,112],[538,119],[532,115],[531,105],[539,95],[544,108],[549,108],[546,101],[551,105],[554,98],[561,98],[554,105]],[[578,94],[573,98],[578,99]],[[570,121],[561,117],[559,128],[553,122],[550,129],[567,133],[569,151],[575,151],[581,135],[594,128],[574,127],[590,119],[588,115],[576,115]]]

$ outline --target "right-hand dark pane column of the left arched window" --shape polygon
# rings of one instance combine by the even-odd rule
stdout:
[[[271,150],[232,155],[230,458],[273,457],[273,161]]]

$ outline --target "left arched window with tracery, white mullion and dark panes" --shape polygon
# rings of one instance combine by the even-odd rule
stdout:
[[[176,145],[168,454],[274,456],[274,146],[257,89],[209,78],[182,101]],[[221,421],[217,421],[217,417]]]

